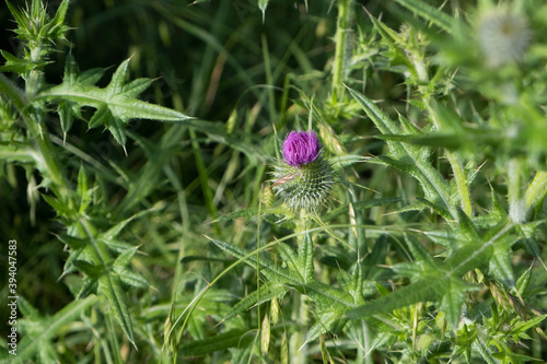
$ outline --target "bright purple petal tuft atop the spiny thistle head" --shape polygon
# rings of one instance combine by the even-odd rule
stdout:
[[[283,142],[284,162],[300,167],[315,161],[321,153],[321,144],[314,131],[291,131]]]

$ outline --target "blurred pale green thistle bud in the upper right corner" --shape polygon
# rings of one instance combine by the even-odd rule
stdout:
[[[519,61],[531,38],[526,19],[502,8],[480,16],[478,35],[486,61],[493,68]]]

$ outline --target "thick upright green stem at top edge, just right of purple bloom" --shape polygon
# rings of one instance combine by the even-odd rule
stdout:
[[[338,102],[342,92],[344,71],[348,46],[348,30],[351,19],[351,0],[338,0],[338,20],[336,22],[336,50],[333,66],[333,103]]]

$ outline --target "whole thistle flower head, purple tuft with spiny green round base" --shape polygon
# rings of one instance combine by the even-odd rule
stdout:
[[[314,131],[291,131],[283,142],[283,161],[271,173],[274,190],[294,210],[312,211],[322,206],[333,189],[333,167],[324,158]]]

